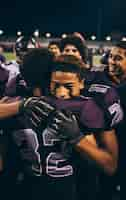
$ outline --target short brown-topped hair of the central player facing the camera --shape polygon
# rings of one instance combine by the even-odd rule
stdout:
[[[73,55],[60,55],[53,61],[52,72],[72,72],[82,80],[85,73],[83,65],[84,63]]]

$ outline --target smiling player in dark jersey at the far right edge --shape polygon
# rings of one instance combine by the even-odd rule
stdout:
[[[109,79],[116,85],[118,94],[120,96],[120,103],[124,110],[124,121],[117,127],[118,140],[120,147],[119,156],[119,171],[117,184],[121,186],[123,195],[125,192],[125,111],[126,111],[126,42],[117,42],[110,51],[108,59]]]

